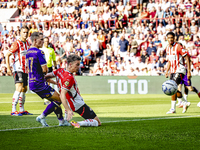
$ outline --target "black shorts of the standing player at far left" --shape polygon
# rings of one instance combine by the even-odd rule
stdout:
[[[27,73],[23,73],[21,71],[15,71],[13,73],[13,78],[15,80],[15,84],[16,83],[23,83],[23,86],[28,85],[28,74]]]

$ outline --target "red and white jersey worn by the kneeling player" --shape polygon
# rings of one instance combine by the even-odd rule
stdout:
[[[56,71],[53,71],[53,75],[56,77],[59,92],[61,92],[61,89],[68,91],[66,94],[66,99],[72,111],[78,110],[85,104],[72,73],[64,68],[59,68]]]

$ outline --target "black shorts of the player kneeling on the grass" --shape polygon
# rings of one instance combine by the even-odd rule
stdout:
[[[79,108],[77,112],[84,119],[94,119],[97,115],[95,112],[86,104],[84,104],[81,108]]]

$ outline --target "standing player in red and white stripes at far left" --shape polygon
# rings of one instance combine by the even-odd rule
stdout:
[[[12,54],[14,55],[13,77],[15,81],[15,92],[13,94],[11,116],[32,115],[24,109],[26,98],[25,93],[27,91],[28,85],[28,74],[26,72],[25,57],[26,52],[30,47],[30,43],[27,40],[28,31],[29,29],[27,26],[23,26],[21,28],[20,38],[12,44],[9,52],[6,54],[7,73],[9,76],[12,75],[10,68],[10,56]],[[18,101],[20,108],[19,111],[16,110]]]

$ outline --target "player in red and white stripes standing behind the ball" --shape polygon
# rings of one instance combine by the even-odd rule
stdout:
[[[175,34],[173,32],[168,32],[167,33],[167,40],[169,45],[166,48],[166,53],[167,53],[167,70],[165,77],[168,77],[168,72],[170,70],[171,75],[170,79],[174,80],[177,85],[179,85],[186,73],[186,68],[184,66],[184,60],[186,60],[187,63],[187,77],[190,79],[191,77],[191,72],[190,72],[190,61],[189,61],[189,56],[187,55],[187,52],[183,49],[183,47],[175,42]],[[171,97],[171,109],[167,112],[167,114],[172,114],[176,113],[176,99],[182,98],[182,93],[181,91],[177,91],[176,94],[172,95]],[[188,108],[188,107],[184,107]]]

